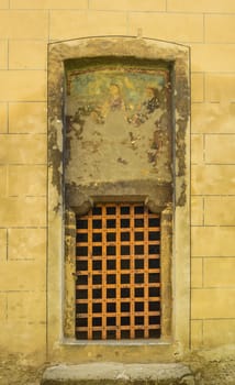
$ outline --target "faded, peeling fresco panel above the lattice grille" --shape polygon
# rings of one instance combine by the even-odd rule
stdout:
[[[170,70],[164,64],[68,63],[66,182],[171,177]]]

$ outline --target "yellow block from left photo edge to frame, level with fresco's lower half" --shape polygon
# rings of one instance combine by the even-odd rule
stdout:
[[[44,134],[1,135],[0,162],[9,164],[45,164],[46,145],[46,135]]]

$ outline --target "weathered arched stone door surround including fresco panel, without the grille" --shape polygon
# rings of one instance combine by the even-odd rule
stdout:
[[[112,70],[122,74],[115,82],[109,80]],[[98,74],[97,82],[104,82],[103,88],[98,86],[97,94],[93,86],[90,90],[86,88],[85,78],[79,79],[79,74],[89,72],[92,76]],[[132,79],[123,74],[132,74]],[[153,87],[156,79],[159,87]],[[82,81],[85,86],[81,86]],[[124,81],[125,86],[122,86]],[[119,95],[119,102],[113,101],[119,110],[113,112],[114,116],[111,97],[105,95],[108,84],[114,86],[118,94],[122,88],[122,98]],[[70,86],[74,87],[74,99]],[[142,99],[144,88],[148,94],[157,92],[154,105]],[[101,89],[107,99],[103,103],[98,96]],[[99,99],[98,108],[92,91]],[[83,94],[80,98],[86,99],[86,110],[79,92],[92,95],[90,99]],[[83,112],[78,113],[81,109]],[[111,141],[113,147],[110,151]],[[122,361],[125,354],[127,362],[171,361],[176,353],[188,349],[189,155],[188,47],[124,36],[49,44],[47,343],[51,359],[86,362],[98,356]],[[76,339],[76,216],[87,213],[96,204],[126,201],[142,202],[152,212],[160,213],[160,338]]]

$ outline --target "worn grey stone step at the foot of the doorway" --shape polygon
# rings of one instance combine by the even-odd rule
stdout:
[[[89,363],[47,367],[42,385],[194,385],[190,369],[180,363]]]

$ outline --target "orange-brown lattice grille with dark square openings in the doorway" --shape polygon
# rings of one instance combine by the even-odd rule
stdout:
[[[76,338],[159,338],[160,216],[105,204],[76,223]]]

